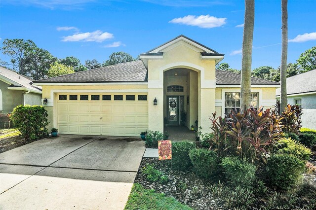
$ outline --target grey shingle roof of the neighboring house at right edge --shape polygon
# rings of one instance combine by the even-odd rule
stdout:
[[[316,92],[316,70],[310,70],[286,79],[287,95],[307,94]],[[276,96],[280,95],[280,89],[276,89]]]

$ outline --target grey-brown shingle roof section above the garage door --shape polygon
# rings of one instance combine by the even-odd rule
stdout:
[[[79,71],[36,82],[147,82],[147,69],[141,60]]]

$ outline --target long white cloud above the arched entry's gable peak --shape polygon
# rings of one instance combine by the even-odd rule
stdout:
[[[217,18],[209,15],[187,15],[180,18],[174,18],[169,23],[178,23],[189,26],[197,26],[199,28],[215,28],[226,24],[227,18]]]

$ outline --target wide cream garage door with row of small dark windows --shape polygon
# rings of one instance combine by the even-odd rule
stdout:
[[[60,134],[136,137],[148,130],[144,94],[58,94],[57,112]]]

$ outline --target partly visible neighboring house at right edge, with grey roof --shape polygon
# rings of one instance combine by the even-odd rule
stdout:
[[[302,126],[316,129],[316,70],[307,71],[286,79],[287,104],[303,108]],[[276,89],[280,100],[280,89]]]

